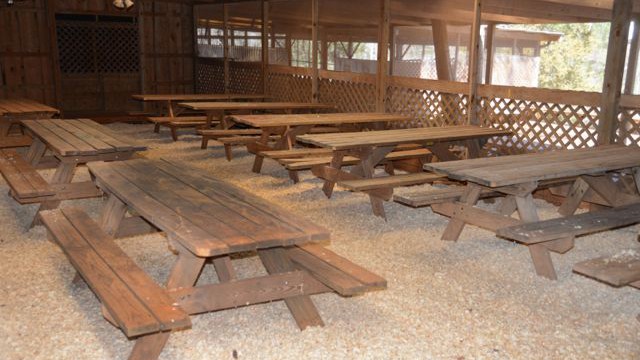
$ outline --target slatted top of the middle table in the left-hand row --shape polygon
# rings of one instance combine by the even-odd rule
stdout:
[[[60,156],[144,151],[111,129],[89,119],[23,120],[22,124]]]

